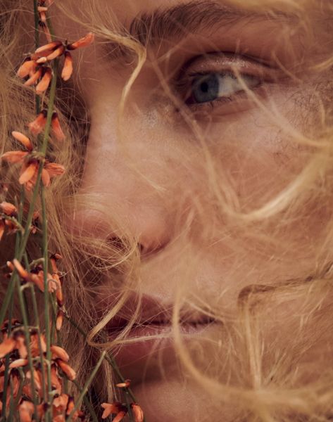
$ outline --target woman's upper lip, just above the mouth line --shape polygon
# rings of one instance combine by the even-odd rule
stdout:
[[[106,298],[108,309],[111,309],[111,297]],[[103,307],[105,313],[105,307]],[[108,331],[121,331],[128,324],[133,326],[171,326],[173,305],[165,305],[160,300],[149,295],[133,294],[124,303],[120,311],[108,322]],[[133,321],[133,316],[135,316]],[[198,312],[191,307],[182,308],[180,311],[180,324],[199,325],[214,322],[211,316]]]

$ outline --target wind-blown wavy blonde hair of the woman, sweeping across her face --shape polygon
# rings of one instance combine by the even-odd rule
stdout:
[[[92,30],[100,43],[107,41],[114,49],[125,49],[132,55],[133,72],[122,93],[118,117],[118,138],[125,136],[122,118],[126,113],[127,96],[130,93],[146,60],[145,46],[131,37],[115,20],[111,11],[103,13],[96,8],[94,1],[84,0],[84,14],[77,16],[75,8],[70,8],[66,1],[55,2],[55,13],[65,13],[68,18]],[[245,4],[244,4],[245,3]],[[293,1],[293,0],[230,0],[228,4],[255,10],[267,15],[274,15],[283,10],[293,16],[294,31],[308,43],[308,49],[320,49],[325,46],[329,51],[318,63],[307,63],[300,58],[300,66],[311,72],[318,72],[318,81],[322,75],[329,74],[332,67],[330,54],[332,29],[330,13],[331,1]],[[33,37],[33,14],[30,3],[0,1],[1,10],[1,72],[0,72],[0,154],[15,149],[13,139],[8,134],[11,130],[25,131],[22,122],[34,118],[34,93],[32,89],[23,89],[15,77],[15,70],[22,61],[23,53],[31,49],[30,44],[23,45],[22,39]],[[27,24],[27,17],[31,20]],[[106,22],[108,25],[106,25]],[[323,28],[325,22],[327,27]],[[113,26],[111,25],[113,24]],[[111,29],[110,29],[111,28]],[[328,28],[328,29],[327,29]],[[147,30],[148,31],[148,30]],[[324,39],[318,46],[318,33]],[[64,34],[65,36],[65,34]],[[286,30],[285,43],[289,32]],[[291,47],[290,47],[291,48]],[[323,50],[325,50],[323,49]],[[158,69],[156,69],[158,72]],[[286,70],[287,72],[287,70]],[[170,101],[177,103],[177,98],[168,90],[168,84],[161,84]],[[294,77],[296,82],[301,79]],[[205,135],[186,110],[182,118],[187,122],[198,141],[202,151],[202,165],[199,177],[206,181],[209,198],[203,203],[201,198],[192,198],[194,213],[189,213],[184,224],[182,215],[177,215],[175,226],[184,241],[184,250],[179,259],[185,260],[189,255],[195,260],[193,251],[186,239],[191,236],[191,224],[197,224],[200,239],[218,243],[228,240],[228,256],[234,260],[234,270],[241,266],[244,256],[251,252],[253,260],[253,278],[257,281],[242,287],[237,292],[236,311],[229,314],[224,309],[213,307],[200,298],[191,298],[189,284],[184,281],[175,298],[172,314],[172,335],[175,339],[177,356],[184,378],[196,381],[202,389],[203,397],[211,396],[211,411],[225,406],[237,407],[234,421],[329,421],[333,409],[333,367],[325,368],[323,373],[314,373],[311,362],[316,360],[329,364],[329,352],[332,360],[332,82],[318,82],[313,89],[314,106],[304,103],[304,119],[313,119],[310,133],[303,134],[297,125],[288,122],[281,113],[265,108],[265,105],[253,96],[258,107],[268,121],[275,122],[277,128],[288,138],[297,153],[303,155],[300,168],[291,169],[283,175],[284,187],[272,186],[270,192],[253,192],[252,198],[242,203],[239,193],[232,185],[230,175],[216,166],[216,159],[207,146]],[[112,342],[103,339],[103,328],[125,304],[128,295],[139,286],[139,251],[137,238],[129,233],[126,222],[116,210],[104,210],[99,205],[99,196],[84,195],[78,191],[82,176],[82,156],[89,132],[89,115],[80,92],[75,94],[71,87],[59,87],[56,107],[61,113],[61,121],[66,127],[67,141],[63,146],[53,146],[51,156],[61,162],[67,173],[56,181],[47,193],[47,207],[50,226],[50,250],[63,255],[62,268],[65,271],[65,304],[70,319],[81,327],[87,338],[77,331],[70,322],[65,325],[63,343],[75,362],[79,373],[79,383],[87,377],[89,366],[98,353],[95,350],[107,349],[117,353],[119,344],[128,343],[126,338],[139,312],[132,322],[122,330]],[[315,108],[314,108],[315,107]],[[314,117],[313,117],[314,116]],[[237,148],[237,146],[233,146]],[[125,146],[124,146],[125,151]],[[184,163],[186,166],[186,162]],[[133,169],[136,170],[135,165]],[[285,170],[285,169],[284,169]],[[156,194],[163,196],[163,190],[153,181],[145,180],[137,170],[138,177]],[[17,174],[6,165],[1,167],[1,182],[8,184],[8,193],[1,193],[1,200],[18,198],[18,186],[15,184]],[[222,183],[221,183],[222,181]],[[180,198],[181,201],[181,198]],[[92,236],[75,236],[63,231],[63,221],[71,215],[73,209],[89,206],[92,210],[103,213],[110,225],[110,231],[116,234],[117,241],[105,241]],[[211,226],[205,219],[208,209],[214,210]],[[107,214],[106,214],[107,212]],[[320,215],[322,224],[317,226],[314,217]],[[291,227],[298,224],[296,235],[289,236]],[[304,243],[303,230],[309,234]],[[313,230],[315,233],[313,234]],[[13,242],[8,241],[8,248],[1,248],[1,262],[11,259]],[[302,243],[300,243],[302,242]],[[37,241],[29,245],[30,258],[38,257]],[[289,269],[297,266],[297,257],[308,259],[312,267],[305,266],[302,274]],[[295,252],[296,253],[296,252]],[[189,254],[189,255],[188,255]],[[196,257],[200,260],[200,255]],[[272,279],[260,278],[260,264],[270,262]],[[315,262],[315,266],[313,266]],[[284,266],[284,279],[275,278],[275,268]],[[232,272],[232,270],[230,270]],[[189,269],[188,279],[192,274]],[[236,271],[237,272],[237,271]],[[101,274],[111,274],[115,289],[119,292],[111,311],[104,315],[94,312],[92,297]],[[294,274],[297,274],[294,276]],[[121,281],[121,283],[120,283]],[[189,281],[189,280],[188,280]],[[1,282],[5,289],[6,280]],[[222,297],[228,291],[221,291]],[[228,297],[228,296],[227,296]],[[220,338],[208,341],[205,338],[194,341],[189,346],[184,343],[180,333],[182,305],[189,302],[195,312],[206,314],[221,324]],[[274,314],[272,314],[274,309]],[[296,309],[295,313],[290,309]],[[232,315],[232,316],[230,316]],[[268,328],[269,322],[274,327]],[[287,327],[287,331],[286,331]],[[268,333],[269,331],[269,333]],[[273,332],[272,332],[273,331]],[[281,343],[279,331],[286,335],[286,344]],[[269,335],[267,335],[269,334]],[[288,337],[289,336],[289,337]],[[142,339],[144,340],[144,338]],[[277,340],[280,340],[277,341]],[[319,341],[324,341],[327,350],[318,350]],[[208,353],[209,350],[209,353]],[[207,359],[209,356],[209,359]],[[311,360],[309,361],[309,357]],[[163,359],[162,359],[163,360]],[[90,362],[87,364],[87,362]],[[117,394],[110,387],[113,371],[106,363],[103,367],[105,379],[104,400],[114,399]],[[208,394],[208,393],[209,394]],[[213,408],[216,409],[213,409]],[[209,418],[209,414],[208,414]],[[156,415],[156,421],[161,420]]]

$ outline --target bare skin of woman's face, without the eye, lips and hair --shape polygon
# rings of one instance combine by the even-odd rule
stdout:
[[[101,10],[112,8],[115,19],[128,27],[137,15],[186,2],[98,0],[95,4]],[[68,23],[56,23],[58,32],[62,25]],[[80,193],[96,195],[106,210],[122,216],[142,251],[138,291],[165,307],[170,307],[177,288],[187,279],[192,302],[200,298],[232,319],[239,293],[246,286],[275,286],[306,278],[324,258],[313,254],[313,249],[320,243],[329,212],[319,212],[315,203],[309,201],[303,214],[293,215],[292,222],[277,231],[274,224],[268,224],[267,234],[274,236],[275,242],[263,246],[259,238],[244,234],[237,238],[237,230],[212,205],[213,194],[207,188],[211,182],[206,172],[208,154],[218,185],[227,182],[232,186],[237,210],[251,212],[282,191],[308,160],[306,148],[296,146],[274,120],[278,115],[284,119],[284,129],[290,125],[307,136],[315,134],[315,85],[320,82],[325,87],[326,79],[300,70],[308,69],[325,51],[317,51],[315,56],[313,44],[301,41],[292,27],[291,19],[282,15],[274,19],[239,15],[229,22],[221,20],[213,30],[206,27],[197,33],[191,30],[181,39],[157,39],[156,45],[148,48],[147,61],[127,98],[122,133],[117,130],[118,108],[135,62],[128,56],[112,56],[112,46],[99,39],[94,48],[80,52],[82,63],[75,70],[74,84],[83,89],[91,118]],[[81,27],[73,27],[73,39],[82,34]],[[281,68],[301,75],[303,82],[291,80]],[[244,91],[225,103],[215,100],[199,105],[189,99],[189,75],[225,71],[250,74],[258,82],[253,84],[258,101]],[[187,92],[178,82],[187,84]],[[194,136],[191,122],[206,139],[205,147]],[[104,229],[111,236],[106,222],[89,208],[77,213],[75,229],[90,236],[94,232],[101,236]],[[106,302],[110,290],[111,281],[101,281],[99,295]],[[295,309],[302,312],[301,302],[279,303],[274,312],[267,313],[264,330],[268,345],[273,338],[281,345],[292,342],[299,324]],[[211,345],[221,344],[222,324],[208,326],[199,336],[207,340],[203,345],[208,362]],[[327,365],[326,340],[318,343],[322,354],[312,349],[302,357],[304,362],[313,362],[312,373]],[[221,361],[225,353],[221,347]],[[196,382],[184,379],[180,366],[172,363],[176,359],[170,348],[168,356],[160,354],[165,373],[158,369],[157,357],[120,363],[148,421],[234,420],[237,410],[227,404],[222,417],[214,413]],[[238,381],[232,378],[231,382]]]

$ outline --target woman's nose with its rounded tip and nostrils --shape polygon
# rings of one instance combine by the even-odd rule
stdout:
[[[167,196],[151,183],[158,179],[156,167],[142,174],[144,167],[133,167],[120,152],[94,146],[92,139],[79,192],[82,202],[71,223],[74,233],[113,243],[125,236],[138,244],[142,257],[160,252],[172,238],[175,219]]]

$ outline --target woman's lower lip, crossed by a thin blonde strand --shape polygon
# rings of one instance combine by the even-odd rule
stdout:
[[[195,338],[200,333],[206,331],[209,327],[215,326],[210,322],[207,324],[181,324],[180,334],[183,339]],[[109,340],[115,340],[119,332],[109,331]],[[125,343],[119,340],[118,350],[115,352],[115,359],[119,366],[126,367],[132,364],[146,362],[149,359],[170,352],[173,349],[174,335],[170,324],[149,324],[142,326],[133,326],[125,337]]]

